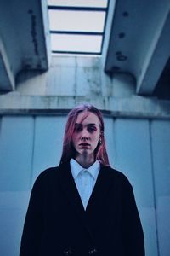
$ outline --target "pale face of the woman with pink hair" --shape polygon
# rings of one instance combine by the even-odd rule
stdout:
[[[72,136],[72,143],[77,151],[77,156],[94,154],[99,138],[100,122],[98,116],[89,111],[79,113]]]

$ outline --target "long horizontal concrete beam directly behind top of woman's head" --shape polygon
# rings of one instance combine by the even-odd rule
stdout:
[[[82,102],[94,104],[105,114],[114,117],[141,119],[170,119],[170,101],[130,96],[21,96],[9,93],[0,96],[0,114],[63,114]]]

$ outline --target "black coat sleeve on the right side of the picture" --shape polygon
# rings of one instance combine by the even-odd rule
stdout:
[[[126,256],[144,256],[144,233],[133,187],[125,180],[122,194],[122,234]]]

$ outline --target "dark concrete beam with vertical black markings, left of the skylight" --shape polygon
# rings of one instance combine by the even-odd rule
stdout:
[[[0,1],[0,24],[0,90],[9,91],[14,90],[14,79],[21,71],[48,70],[47,0]]]

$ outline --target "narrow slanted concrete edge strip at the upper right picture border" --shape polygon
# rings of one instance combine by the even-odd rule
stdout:
[[[138,94],[151,95],[155,90],[156,83],[166,66],[170,55],[170,13],[165,17],[161,28],[153,40],[150,54],[146,56],[142,73],[137,80]]]

